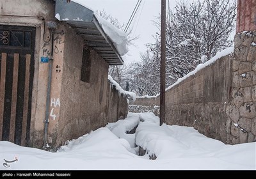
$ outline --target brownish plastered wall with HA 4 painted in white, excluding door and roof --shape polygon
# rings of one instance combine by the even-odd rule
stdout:
[[[67,140],[127,115],[127,97],[112,88],[108,81],[108,63],[93,49],[90,82],[80,81],[83,39],[70,26],[55,19],[54,1],[29,0],[24,3],[4,0],[0,1],[0,6],[0,24],[36,27],[29,146],[42,148],[44,144],[49,63],[41,63],[40,58],[51,56],[51,32],[45,27],[49,20],[58,23],[52,38],[54,61],[48,128],[51,148],[54,150]]]

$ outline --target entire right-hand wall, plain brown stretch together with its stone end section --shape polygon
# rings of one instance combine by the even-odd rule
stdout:
[[[166,91],[166,123],[227,144],[256,141],[256,33],[238,33],[232,56]]]

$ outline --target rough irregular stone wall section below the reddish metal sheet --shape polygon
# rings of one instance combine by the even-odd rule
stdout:
[[[235,36],[232,91],[227,107],[227,142],[256,141],[256,31]]]

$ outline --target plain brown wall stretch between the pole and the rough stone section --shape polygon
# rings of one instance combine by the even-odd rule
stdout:
[[[166,91],[166,123],[193,126],[226,142],[231,58],[225,56]]]

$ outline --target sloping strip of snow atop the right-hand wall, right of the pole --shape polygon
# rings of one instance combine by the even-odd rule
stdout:
[[[223,56],[227,56],[228,54],[231,54],[232,52],[234,52],[234,47],[228,47],[227,49],[217,52],[216,56],[214,56],[213,58],[211,58],[209,61],[206,61],[203,64],[199,64],[195,70],[193,70],[192,72],[189,72],[187,75],[185,75],[184,77],[178,79],[175,83],[173,83],[171,86],[169,86],[168,88],[165,89],[165,91],[167,91],[168,89],[173,88],[173,86],[179,84],[181,81],[184,81],[184,79],[190,77],[191,75],[195,75],[196,72],[198,72],[199,70],[202,70],[203,68],[205,68],[206,66],[211,65],[212,63],[215,63],[215,61],[217,59],[220,59]]]

